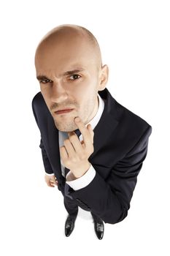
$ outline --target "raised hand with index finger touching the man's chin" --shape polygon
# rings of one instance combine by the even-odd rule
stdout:
[[[94,151],[94,132],[90,124],[85,127],[81,119],[76,120],[77,118],[74,118],[83,140],[80,141],[75,132],[68,132],[69,138],[64,140],[64,146],[60,147],[60,155],[63,165],[71,170],[75,178],[80,178],[90,168],[88,158]]]

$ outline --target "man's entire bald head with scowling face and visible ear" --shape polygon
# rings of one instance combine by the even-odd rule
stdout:
[[[58,130],[77,129],[74,117],[87,124],[98,110],[98,91],[107,84],[108,67],[93,34],[81,26],[61,25],[39,42],[36,78]],[[68,113],[55,111],[72,109]]]

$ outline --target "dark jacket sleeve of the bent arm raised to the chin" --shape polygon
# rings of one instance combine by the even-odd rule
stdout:
[[[87,187],[70,192],[80,206],[93,211],[105,223],[115,224],[128,215],[137,176],[147,156],[147,146],[152,127],[147,127],[131,151],[120,159],[106,180],[96,171]]]

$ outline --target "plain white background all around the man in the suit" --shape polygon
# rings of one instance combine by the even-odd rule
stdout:
[[[1,1],[0,10],[0,254],[169,255],[169,1],[15,0]],[[63,196],[45,184],[31,109],[36,46],[64,23],[96,36],[109,65],[107,89],[152,126],[128,217],[105,224],[101,241],[81,215],[64,235]]]

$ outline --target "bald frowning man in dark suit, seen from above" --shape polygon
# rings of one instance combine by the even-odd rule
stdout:
[[[63,194],[65,234],[74,230],[80,206],[101,239],[104,222],[128,214],[152,127],[107,90],[109,69],[88,29],[68,24],[49,31],[36,48],[35,67],[41,91],[32,108],[45,181]]]

